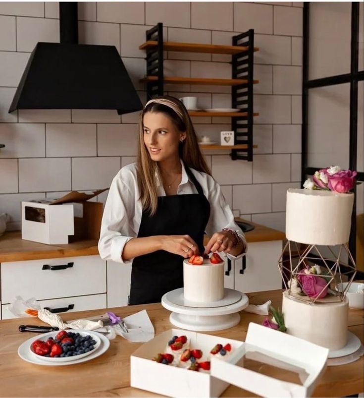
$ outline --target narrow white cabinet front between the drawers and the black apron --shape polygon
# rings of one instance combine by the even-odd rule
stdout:
[[[128,305],[131,264],[107,261],[107,308]]]

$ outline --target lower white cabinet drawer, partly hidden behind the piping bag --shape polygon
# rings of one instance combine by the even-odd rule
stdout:
[[[38,301],[39,305],[44,307],[49,307],[51,309],[56,308],[66,308],[68,306],[72,306],[72,309],[66,311],[75,312],[75,311],[86,311],[86,310],[94,310],[98,308],[106,308],[106,294],[92,294],[90,296],[80,296],[80,297],[66,297],[66,298],[53,298],[52,300],[40,300]],[[8,309],[8,304],[4,304],[1,306],[2,319],[10,319],[16,318]],[[62,312],[63,313],[63,312]],[[59,313],[60,317],[62,317],[62,313]],[[31,318],[29,318],[29,322],[31,323]]]

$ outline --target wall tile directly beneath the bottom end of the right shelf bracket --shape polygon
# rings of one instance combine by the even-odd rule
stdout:
[[[219,184],[251,184],[252,163],[240,162],[236,165],[229,156],[213,156],[212,175]]]

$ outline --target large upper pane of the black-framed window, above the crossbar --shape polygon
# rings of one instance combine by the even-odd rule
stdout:
[[[310,2],[309,79],[350,73],[351,2]]]

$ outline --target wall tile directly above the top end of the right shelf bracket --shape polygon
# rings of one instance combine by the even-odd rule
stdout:
[[[273,34],[273,6],[234,2],[234,30],[245,32],[254,29],[254,33]]]

